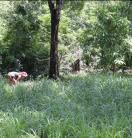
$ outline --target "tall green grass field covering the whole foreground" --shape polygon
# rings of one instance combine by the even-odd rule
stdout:
[[[131,138],[132,77],[0,81],[0,138]]]

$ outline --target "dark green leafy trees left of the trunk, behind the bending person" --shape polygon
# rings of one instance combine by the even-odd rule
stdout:
[[[39,2],[14,2],[8,21],[9,29],[3,39],[3,71],[26,70],[37,75],[47,70],[49,36],[45,37],[48,28],[43,27],[39,19],[43,16],[41,8]],[[17,60],[22,68],[16,68]]]

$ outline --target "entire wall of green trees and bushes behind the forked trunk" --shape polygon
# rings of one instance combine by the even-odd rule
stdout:
[[[47,2],[6,1],[0,8],[1,72],[46,75],[51,31]],[[129,1],[65,2],[59,26],[60,71],[70,71],[81,50],[85,68],[131,68],[131,10]]]

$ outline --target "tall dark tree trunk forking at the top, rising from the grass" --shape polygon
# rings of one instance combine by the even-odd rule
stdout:
[[[59,77],[58,61],[58,28],[60,21],[60,11],[62,0],[48,0],[51,13],[51,48],[50,48],[50,67],[49,78],[57,79]]]

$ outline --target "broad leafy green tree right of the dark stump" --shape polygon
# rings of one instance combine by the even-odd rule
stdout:
[[[126,2],[127,3],[127,2]],[[130,20],[123,15],[123,12],[127,10],[122,10],[122,5],[126,3],[123,2],[98,2],[94,6],[92,19],[87,21],[87,27],[82,32],[80,37],[81,45],[85,53],[89,53],[89,56],[84,56],[86,62],[92,62],[92,49],[98,49],[93,56],[100,58],[100,61],[96,65],[98,67],[103,67],[109,69],[112,64],[116,64],[119,59],[125,57],[125,39],[128,38],[130,30]],[[94,12],[96,11],[96,12]],[[91,16],[92,17],[92,16]],[[125,51],[123,51],[125,50]],[[124,53],[123,53],[124,52]],[[115,54],[116,53],[116,54]],[[98,59],[97,58],[97,59]],[[122,60],[119,61],[120,63]],[[117,66],[119,64],[117,63]],[[125,59],[123,64],[126,64]]]

